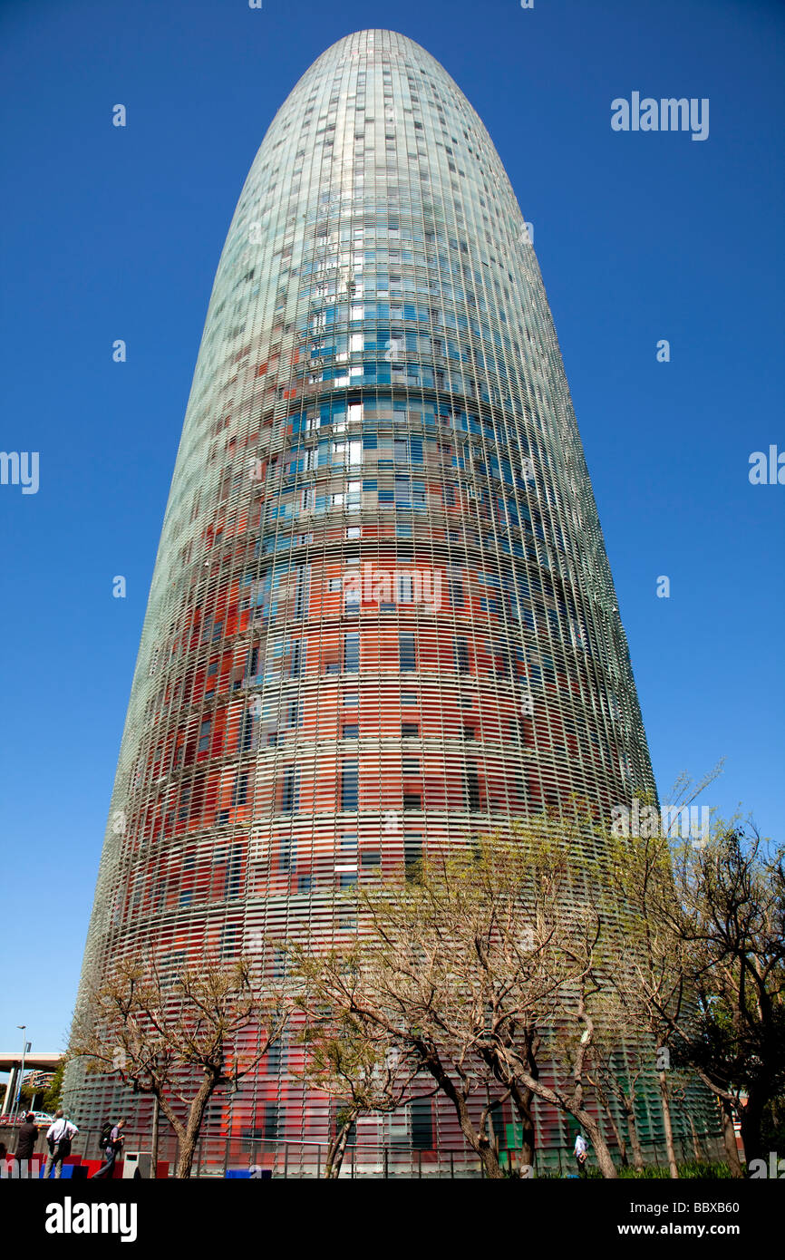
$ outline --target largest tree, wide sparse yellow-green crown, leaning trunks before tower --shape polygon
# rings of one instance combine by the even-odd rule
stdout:
[[[533,1147],[533,1097],[575,1116],[604,1176],[616,1176],[585,1105],[596,995],[606,982],[604,924],[573,857],[582,852],[575,832],[543,819],[508,840],[437,853],[415,879],[360,888],[352,950],[300,960],[319,1000],[355,1018],[367,1036],[383,1032],[431,1075],[489,1177],[501,1176],[490,1111],[510,1099]],[[551,1029],[559,1022],[578,1033],[567,1063],[553,1062]],[[537,1062],[546,1040],[549,1084]]]

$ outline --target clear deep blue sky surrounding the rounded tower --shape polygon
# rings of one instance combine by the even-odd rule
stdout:
[[[534,224],[660,790],[725,755],[706,803],[782,838],[785,485],[747,472],[785,451],[785,6],[5,0],[0,447],[40,452],[40,489],[0,486],[3,1050],[19,1023],[64,1043],[236,200],[300,74],[367,26],[442,62]],[[633,91],[708,97],[708,140],[612,132]]]

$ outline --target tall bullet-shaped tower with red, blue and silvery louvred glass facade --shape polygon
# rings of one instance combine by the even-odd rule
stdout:
[[[339,942],[357,881],[572,794],[607,818],[651,789],[509,180],[428,53],[349,35],[273,118],[218,266],[82,1000],[122,954]],[[115,1086],[73,1087],[102,1120]],[[286,1050],[209,1121],[292,1145],[328,1123]],[[457,1144],[425,1108],[375,1133]]]

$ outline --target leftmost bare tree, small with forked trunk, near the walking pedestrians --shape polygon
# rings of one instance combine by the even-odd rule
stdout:
[[[287,1018],[281,994],[267,989],[262,998],[244,959],[163,975],[155,960],[127,958],[84,1004],[68,1055],[156,1097],[178,1137],[178,1177],[190,1177],[214,1091],[236,1087]]]

